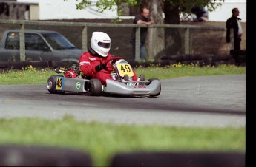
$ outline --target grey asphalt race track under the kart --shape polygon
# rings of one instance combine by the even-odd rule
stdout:
[[[46,81],[45,81],[46,82]],[[245,127],[246,75],[161,80],[157,98],[53,95],[42,85],[0,85],[0,117],[42,117],[132,125]]]

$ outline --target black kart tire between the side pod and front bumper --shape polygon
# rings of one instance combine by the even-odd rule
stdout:
[[[88,83],[88,95],[99,96],[102,94],[102,83],[99,79],[93,78]]]

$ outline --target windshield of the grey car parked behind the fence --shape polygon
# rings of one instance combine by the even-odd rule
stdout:
[[[68,41],[67,38],[59,35],[58,33],[45,33],[42,34],[46,41],[50,44],[53,50],[65,50],[65,49],[72,49],[75,46]]]

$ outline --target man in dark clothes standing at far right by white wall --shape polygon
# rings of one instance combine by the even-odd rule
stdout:
[[[232,50],[234,52],[240,51],[241,36],[243,33],[242,26],[240,24],[239,10],[237,7],[232,9],[232,17],[226,21],[226,42],[232,43]],[[232,36],[232,37],[231,37]]]

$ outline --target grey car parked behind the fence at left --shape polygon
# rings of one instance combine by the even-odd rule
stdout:
[[[50,67],[77,65],[82,52],[56,31],[25,29],[25,61],[47,61]],[[0,63],[19,61],[19,30],[6,30],[0,43]]]

